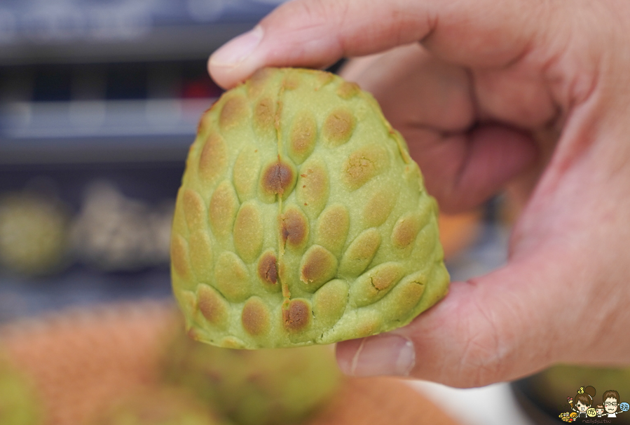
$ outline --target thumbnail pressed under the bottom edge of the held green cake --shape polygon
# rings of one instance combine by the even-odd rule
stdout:
[[[362,339],[352,361],[341,367],[355,377],[408,376],[414,365],[416,350],[411,339],[385,334]]]

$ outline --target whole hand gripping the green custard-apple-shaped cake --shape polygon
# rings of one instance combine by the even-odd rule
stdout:
[[[630,4],[295,0],[217,50],[225,88],[264,66],[345,70],[458,212],[516,187],[505,267],[410,325],[338,344],[350,375],[481,386],[552,363],[630,364]]]

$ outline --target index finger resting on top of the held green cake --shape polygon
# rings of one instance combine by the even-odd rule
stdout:
[[[296,0],[219,48],[208,70],[230,88],[261,67],[324,67],[413,41],[461,65],[499,66],[528,48],[540,16],[526,0]]]

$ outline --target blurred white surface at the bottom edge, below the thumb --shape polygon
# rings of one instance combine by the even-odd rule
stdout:
[[[462,425],[535,425],[521,410],[507,383],[472,389],[426,381],[409,384]]]

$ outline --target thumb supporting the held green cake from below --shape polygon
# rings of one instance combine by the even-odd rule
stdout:
[[[562,339],[554,335],[562,327],[553,324],[561,320],[556,311],[564,298],[550,293],[561,285],[548,282],[560,276],[551,276],[556,271],[542,264],[523,261],[451,283],[447,297],[406,327],[338,343],[341,370],[472,387],[542,369],[554,359]]]

